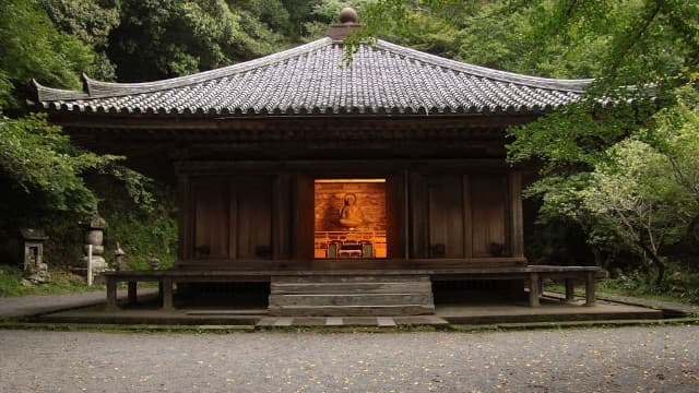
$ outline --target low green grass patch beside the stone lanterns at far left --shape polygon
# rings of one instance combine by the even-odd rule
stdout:
[[[26,295],[60,295],[92,290],[105,290],[104,285],[87,286],[84,277],[62,270],[49,272],[51,279],[47,284],[22,283],[22,271],[15,266],[0,265],[0,297]]]

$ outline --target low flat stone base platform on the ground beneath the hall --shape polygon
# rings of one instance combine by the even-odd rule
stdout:
[[[535,323],[565,321],[661,320],[663,312],[649,308],[597,301],[582,306],[583,299],[561,303],[542,298],[537,308],[525,301],[518,305],[450,303],[438,305],[434,315],[382,317],[284,317],[270,315],[266,309],[174,309],[162,310],[144,302],[116,312],[105,306],[68,310],[42,315],[36,321],[48,323],[143,324],[143,325],[247,325],[263,329],[303,326],[448,326],[450,324]]]

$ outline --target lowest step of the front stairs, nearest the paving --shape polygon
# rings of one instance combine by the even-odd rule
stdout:
[[[270,306],[270,314],[276,317],[392,317],[433,314],[435,307],[424,305],[391,306]]]

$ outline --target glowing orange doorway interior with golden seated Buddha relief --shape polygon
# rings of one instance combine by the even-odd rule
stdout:
[[[387,258],[386,179],[316,179],[317,259]]]

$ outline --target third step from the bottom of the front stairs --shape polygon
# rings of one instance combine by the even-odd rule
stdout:
[[[274,283],[272,294],[431,294],[431,283]]]

